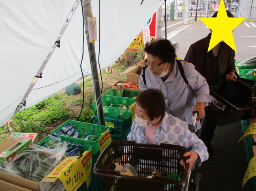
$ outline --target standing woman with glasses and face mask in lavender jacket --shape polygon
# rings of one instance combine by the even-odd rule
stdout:
[[[139,88],[160,89],[165,98],[165,111],[188,124],[193,122],[193,112],[198,111],[197,129],[200,129],[199,120],[212,97],[205,78],[193,64],[175,59],[175,46],[169,40],[148,42],[144,50],[148,67],[139,79]]]

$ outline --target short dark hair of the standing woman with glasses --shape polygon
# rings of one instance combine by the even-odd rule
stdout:
[[[153,56],[158,56],[163,62],[175,61],[177,44],[172,44],[169,40],[158,38],[152,42],[147,42],[144,51]]]

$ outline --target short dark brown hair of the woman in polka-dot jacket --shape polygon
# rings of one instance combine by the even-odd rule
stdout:
[[[139,93],[136,98],[136,104],[145,109],[150,118],[161,119],[165,116],[165,98],[159,89],[146,89]]]

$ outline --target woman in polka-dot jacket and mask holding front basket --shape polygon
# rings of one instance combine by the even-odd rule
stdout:
[[[181,160],[180,164],[189,163],[190,170],[195,162],[200,166],[209,157],[207,147],[189,131],[187,123],[165,112],[164,96],[157,89],[144,90],[137,96],[136,117],[127,139],[136,143],[183,146],[188,149],[184,156],[189,159]]]

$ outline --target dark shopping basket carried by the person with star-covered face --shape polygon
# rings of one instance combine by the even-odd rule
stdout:
[[[223,86],[210,86],[210,95],[213,96],[213,99],[209,106],[205,107],[205,113],[218,126],[231,124],[243,119],[244,116],[250,116],[252,109],[255,107],[255,89],[239,78],[235,83],[242,84],[246,87],[247,92],[249,91],[249,95],[247,93],[247,95],[242,95],[242,98],[239,98],[241,102],[246,103],[240,108],[234,106],[221,95]],[[239,102],[239,100],[237,101]]]

